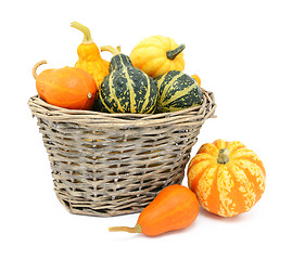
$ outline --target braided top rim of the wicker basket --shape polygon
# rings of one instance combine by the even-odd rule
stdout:
[[[43,101],[39,95],[29,98],[27,104],[31,109],[33,116],[47,118],[56,121],[71,121],[71,122],[109,122],[111,125],[140,125],[145,121],[158,123],[164,120],[172,120],[172,118],[196,117],[199,120],[206,120],[214,116],[217,107],[214,94],[211,91],[203,90],[203,103],[198,106],[185,108],[176,112],[160,113],[160,114],[127,114],[127,113],[102,113],[96,110],[81,110],[81,109],[67,109],[51,105]]]

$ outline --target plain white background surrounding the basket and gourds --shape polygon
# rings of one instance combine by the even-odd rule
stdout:
[[[291,1],[5,1],[0,9],[1,259],[291,259]],[[188,229],[157,237],[110,233],[138,214],[75,216],[59,203],[49,159],[27,101],[31,68],[74,66],[82,36],[98,46],[136,43],[163,35],[186,43],[187,74],[215,93],[192,150],[216,139],[256,152],[266,191],[247,213],[219,218],[200,210]],[[106,60],[111,55],[103,55]],[[40,69],[41,70],[41,69]],[[167,153],[167,151],[166,151]],[[187,184],[185,178],[183,184]]]

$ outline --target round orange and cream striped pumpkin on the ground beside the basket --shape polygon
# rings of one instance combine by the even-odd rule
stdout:
[[[262,197],[265,180],[258,156],[238,141],[202,145],[188,167],[188,185],[200,205],[221,217],[249,211]]]

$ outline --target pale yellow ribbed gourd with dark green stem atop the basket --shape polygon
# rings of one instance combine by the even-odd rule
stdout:
[[[130,60],[135,67],[157,78],[169,70],[185,69],[183,49],[169,37],[152,36],[141,40],[131,51]]]

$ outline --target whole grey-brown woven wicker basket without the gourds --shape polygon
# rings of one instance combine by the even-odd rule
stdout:
[[[165,186],[181,183],[190,152],[216,104],[155,115],[104,114],[28,101],[52,169],[54,190],[72,213],[140,212]]]

